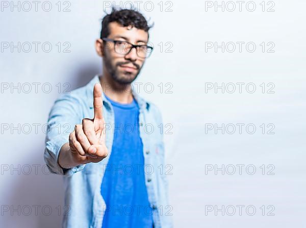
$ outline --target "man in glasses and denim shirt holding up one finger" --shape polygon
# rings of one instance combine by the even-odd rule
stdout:
[[[131,86],[152,51],[149,29],[139,12],[113,9],[95,44],[103,74],[49,113],[44,159],[64,175],[63,227],[172,227],[161,113]]]

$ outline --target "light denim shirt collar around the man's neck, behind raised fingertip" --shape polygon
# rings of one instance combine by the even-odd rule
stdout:
[[[100,83],[98,74],[95,75],[95,77],[87,85],[87,100],[90,108],[93,108],[93,87],[96,83]],[[140,110],[145,110],[145,109],[149,110],[150,104],[146,102],[146,100],[140,97],[139,94],[136,93],[133,89],[132,89],[132,94],[135,97]],[[103,105],[105,105],[107,109],[111,109],[112,105],[109,102],[109,100],[105,97],[104,93],[102,93],[102,98],[103,98]]]

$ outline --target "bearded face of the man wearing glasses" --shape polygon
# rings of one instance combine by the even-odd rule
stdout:
[[[111,22],[109,23],[109,31],[108,39],[128,41],[135,45],[148,42],[148,33],[135,27],[123,27],[117,22]],[[131,84],[140,73],[145,59],[137,55],[136,48],[125,54],[128,50],[126,45],[123,49],[118,48],[120,43],[117,43],[116,47],[114,45],[113,42],[104,42],[104,45],[100,47],[103,48],[104,67],[117,83],[121,85]]]

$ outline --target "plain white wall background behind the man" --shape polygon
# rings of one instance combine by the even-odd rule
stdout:
[[[4,1],[1,2],[1,4]],[[140,11],[150,22],[155,22],[150,30],[150,41],[154,44],[154,54],[147,60],[136,82],[152,83],[154,91],[149,93],[140,87],[140,94],[158,105],[161,109],[164,124],[173,125],[173,134],[165,135],[167,164],[173,166],[170,180],[170,204],[175,227],[305,227],[305,7],[304,1],[274,1],[274,12],[267,12],[273,3],[265,2],[262,12],[262,1],[254,1],[256,10],[250,12],[252,5],[246,8],[246,2],[239,12],[229,12],[233,5],[221,8],[205,8],[205,1],[172,1],[142,2]],[[17,1],[14,1],[17,4]],[[22,4],[22,2],[20,2]],[[32,3],[32,2],[31,2]],[[9,85],[2,89],[1,104],[1,175],[0,205],[9,206],[9,212],[3,212],[1,227],[59,227],[62,217],[58,215],[58,206],[63,210],[63,184],[59,175],[46,175],[44,169],[44,138],[42,125],[46,123],[48,112],[55,99],[63,93],[69,83],[69,90],[84,86],[96,73],[101,72],[101,59],[94,50],[94,41],[99,36],[100,19],[108,12],[112,2],[73,1],[68,8],[70,12],[58,12],[56,1],[52,2],[52,10],[45,12],[41,2],[38,12],[32,3],[32,10],[24,12],[17,8],[4,8],[0,11],[0,41],[13,42],[50,42],[53,46],[45,53],[41,45],[38,52],[32,44],[29,53],[17,48],[1,50],[0,74],[1,85]],[[133,2],[136,6],[136,3]],[[217,2],[219,5],[222,1]],[[226,2],[225,2],[226,3]],[[9,2],[9,4],[11,4]],[[119,1],[116,1],[120,5]],[[124,5],[124,2],[121,3]],[[145,5],[146,4],[146,5]],[[154,9],[151,9],[152,4]],[[161,10],[161,4],[163,9]],[[144,7],[145,5],[145,7]],[[28,6],[23,5],[24,9]],[[125,5],[129,7],[129,5]],[[48,9],[48,5],[45,5]],[[168,10],[167,10],[168,9]],[[167,12],[172,10],[172,12]],[[161,12],[162,11],[162,12]],[[58,52],[56,44],[69,42],[70,53]],[[163,50],[161,51],[161,42]],[[169,49],[172,53],[165,52]],[[222,53],[221,48],[205,52],[206,42],[254,42],[256,50],[251,53],[242,52],[236,46],[235,52],[228,52],[232,46]],[[262,52],[260,44],[265,42]],[[273,42],[274,53],[267,52],[267,43]],[[160,44],[160,45],[159,45]],[[62,48],[65,47],[62,45]],[[28,46],[25,47],[28,49]],[[8,84],[7,84],[8,83]],[[20,91],[11,86],[18,86]],[[26,93],[32,85],[32,90]],[[38,85],[35,92],[33,83]],[[52,90],[47,93],[48,87]],[[58,83],[61,83],[60,87]],[[158,85],[171,83],[173,86],[166,93],[160,91]],[[236,91],[230,93],[232,87],[222,93],[214,89],[205,91],[206,83],[217,83],[218,86],[232,85]],[[253,83],[256,91],[247,92],[245,85],[239,92],[236,83]],[[262,92],[265,83],[265,92]],[[268,83],[275,87],[274,93],[267,93]],[[272,85],[271,84],[271,85]],[[57,86],[58,85],[58,86]],[[22,87],[23,86],[23,87]],[[60,91],[58,91],[60,88]],[[149,88],[149,87],[147,87]],[[249,87],[252,89],[251,87]],[[14,126],[19,130],[13,130]],[[207,124],[242,123],[242,134],[238,126],[234,134],[232,129],[222,134],[208,131]],[[246,132],[247,124],[254,124],[256,132]],[[266,131],[262,134],[262,124]],[[10,129],[4,131],[9,124]],[[30,124],[32,130],[21,129],[23,124]],[[35,125],[38,132],[35,132]],[[267,134],[267,124],[275,126],[275,134]],[[272,126],[273,126],[272,125]],[[228,125],[230,126],[230,125]],[[250,128],[250,130],[252,130]],[[242,174],[238,166],[233,175],[232,169],[214,174],[206,174],[208,164],[218,167],[237,164],[244,165]],[[265,174],[260,166],[264,164]],[[275,167],[274,175],[267,175],[268,165]],[[18,168],[20,165],[20,168]],[[38,166],[35,173],[34,166]],[[253,165],[256,172],[246,172],[246,166]],[[10,167],[6,171],[7,167]],[[32,167],[29,175],[29,166]],[[230,166],[227,166],[230,167]],[[16,168],[13,170],[12,168]],[[252,171],[250,168],[249,171]],[[18,173],[20,172],[20,174]],[[39,205],[36,216],[34,211],[29,216],[24,206]],[[208,205],[222,209],[227,206],[236,207],[236,213],[230,215],[228,208],[222,212],[208,212]],[[237,205],[243,205],[239,215]],[[264,205],[265,215],[260,209]],[[18,206],[25,211],[20,211]],[[41,215],[42,207],[53,209],[49,216]],[[250,216],[246,207],[256,208]],[[274,216],[267,216],[273,210]],[[17,209],[14,212],[12,209]],[[13,216],[11,216],[13,213]],[[48,213],[46,209],[45,213]],[[249,210],[252,213],[252,210]],[[60,212],[60,215],[63,211]]]

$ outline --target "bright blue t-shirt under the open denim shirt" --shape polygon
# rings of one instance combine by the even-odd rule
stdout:
[[[106,98],[115,113],[112,153],[101,184],[106,202],[103,228],[152,227],[152,209],[144,177],[143,144],[139,135],[139,106]]]

